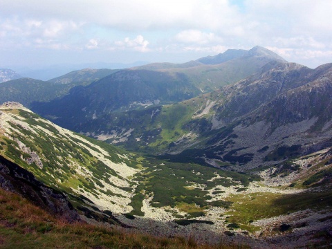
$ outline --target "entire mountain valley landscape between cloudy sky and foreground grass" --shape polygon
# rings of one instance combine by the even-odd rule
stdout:
[[[3,82],[0,183],[67,221],[129,234],[329,247],[331,82],[332,64],[258,46]]]

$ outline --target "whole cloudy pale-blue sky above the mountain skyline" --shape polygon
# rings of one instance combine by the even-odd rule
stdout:
[[[264,46],[332,62],[328,0],[0,0],[0,68],[187,62]]]

